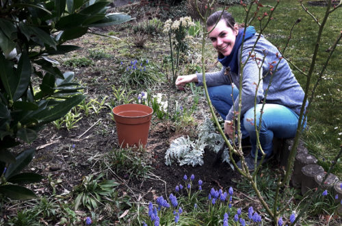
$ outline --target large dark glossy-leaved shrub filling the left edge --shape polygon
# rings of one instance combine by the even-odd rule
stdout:
[[[108,3],[103,0],[1,3],[0,172],[4,172],[1,195],[11,199],[34,197],[34,192],[8,181],[38,180],[37,175],[18,174],[31,161],[34,150],[16,156],[9,148],[18,145],[18,141],[34,141],[43,125],[62,118],[84,99],[79,92],[83,87],[73,81],[74,73],[62,73],[56,66],[58,62],[49,55],[79,49],[64,42],[83,36],[89,27],[131,20],[126,14],[108,14]]]

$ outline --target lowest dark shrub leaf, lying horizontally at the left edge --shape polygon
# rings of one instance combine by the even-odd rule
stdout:
[[[16,185],[3,185],[0,186],[0,193],[5,197],[14,200],[27,200],[27,199],[35,199],[37,196],[33,191],[24,188],[22,186]]]

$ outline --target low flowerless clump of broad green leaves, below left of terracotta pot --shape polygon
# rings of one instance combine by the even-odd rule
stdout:
[[[77,195],[75,199],[75,210],[78,210],[81,205],[89,210],[96,209],[103,197],[109,197],[114,187],[120,185],[114,180],[103,180],[100,182],[99,180],[103,176],[104,174],[101,173],[96,178],[93,178],[94,175],[83,177],[81,185],[76,186],[73,191]]]

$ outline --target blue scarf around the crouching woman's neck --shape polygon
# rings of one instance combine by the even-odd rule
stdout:
[[[237,74],[237,71],[239,70],[239,64],[237,61],[237,55],[238,55],[237,51],[239,51],[239,48],[241,47],[243,34],[244,34],[244,28],[239,29],[239,34],[237,34],[237,37],[235,39],[235,45],[230,55],[226,55],[224,56],[224,58],[220,58],[220,55],[222,56],[222,54],[219,53],[219,56],[218,56],[218,61],[220,61],[220,63],[223,66],[226,66],[226,67],[229,66],[231,68],[231,71],[235,74]],[[255,34],[254,27],[253,26],[247,27],[244,41],[248,40],[248,38],[252,38],[254,34]]]

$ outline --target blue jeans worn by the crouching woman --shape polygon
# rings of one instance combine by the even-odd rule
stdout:
[[[222,85],[208,87],[208,92],[211,103],[222,118],[226,120],[226,115],[233,106],[233,99],[235,100],[238,97],[239,90],[235,87],[232,90],[231,85]],[[256,108],[257,128],[259,128],[262,104],[257,104]],[[264,105],[259,140],[261,148],[266,154],[266,158],[269,158],[273,153],[272,140],[274,137],[295,137],[295,132],[298,127],[298,118],[298,114],[295,114],[295,112],[284,105],[272,103],[266,103]],[[241,134],[242,138],[250,136],[250,143],[252,145],[251,155],[254,157],[257,149],[257,132],[254,126],[254,107],[250,108],[244,116],[241,117]],[[261,152],[259,151],[258,158],[261,158],[261,156]]]

